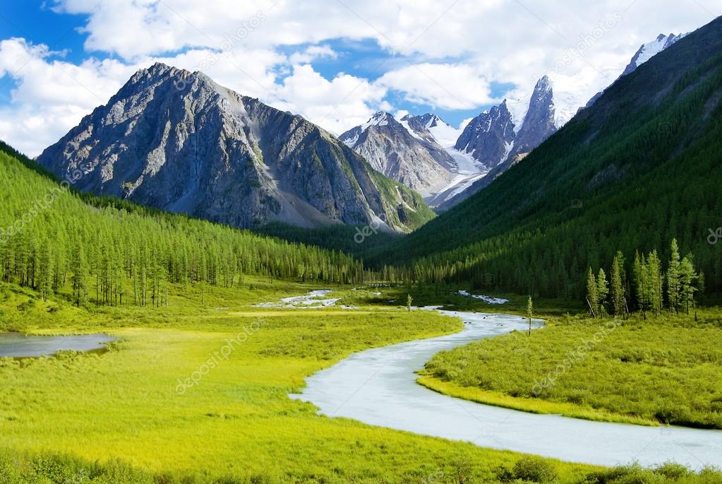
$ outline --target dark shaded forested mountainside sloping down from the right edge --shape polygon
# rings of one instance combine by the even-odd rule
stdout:
[[[580,296],[616,252],[695,254],[722,289],[722,20],[604,92],[487,189],[373,258],[420,280]],[[712,233],[710,233],[710,230]]]

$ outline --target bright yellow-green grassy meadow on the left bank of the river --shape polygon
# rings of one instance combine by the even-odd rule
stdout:
[[[288,398],[306,376],[349,353],[461,328],[453,318],[375,305],[251,306],[311,288],[249,280],[243,289],[206,288],[206,307],[196,288],[173,288],[168,308],[141,309],[74,308],[63,298],[43,303],[30,291],[1,286],[3,329],[102,331],[118,342],[102,355],[0,359],[0,482],[396,483],[460,472],[495,480],[497,469],[521,459],[322,417]],[[373,292],[339,290],[357,302]],[[179,380],[259,317],[259,329],[227,359],[176,392]],[[547,462],[568,483],[598,469]]]

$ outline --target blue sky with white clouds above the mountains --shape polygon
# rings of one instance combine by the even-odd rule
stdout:
[[[36,155],[155,61],[336,134],[382,109],[454,127],[503,98],[523,110],[545,74],[557,112],[573,113],[642,43],[721,10],[717,0],[4,0],[0,138]]]

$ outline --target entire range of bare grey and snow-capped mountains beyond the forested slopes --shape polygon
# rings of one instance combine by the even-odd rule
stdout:
[[[641,46],[622,77],[679,38]],[[79,173],[85,191],[240,228],[340,222],[408,232],[434,217],[428,206],[450,209],[523,160],[578,99],[544,76],[528,98],[503,100],[464,129],[433,113],[380,111],[337,139],[200,72],[155,64],[38,162],[61,177]]]

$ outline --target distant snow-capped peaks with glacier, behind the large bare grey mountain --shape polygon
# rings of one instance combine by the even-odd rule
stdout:
[[[622,76],[634,72],[638,66],[680,38],[682,35],[659,35],[656,40],[645,43],[632,57]],[[586,106],[593,104],[601,94],[599,92],[595,95]],[[384,169],[388,165],[381,167],[380,161],[379,166],[374,166],[396,181],[419,190],[431,207],[437,212],[443,212],[489,186],[498,176],[523,160],[531,150],[564,126],[573,113],[583,109],[582,103],[580,93],[555,93],[553,79],[544,76],[536,82],[528,98],[503,100],[471,119],[461,132],[431,113],[423,116],[406,115],[400,122],[394,120],[393,123],[388,122],[379,127],[374,119],[383,115],[384,119],[393,120],[393,116],[377,113],[367,124],[342,134],[341,139],[370,159],[383,160],[385,156],[386,160],[394,162],[403,159],[403,173],[399,173],[395,167],[392,170]],[[387,137],[384,144],[379,141],[378,133],[391,130],[391,124],[396,132],[396,142],[388,142]],[[371,134],[367,134],[372,126]],[[432,131],[432,126],[443,132],[443,142],[440,135]],[[438,126],[442,126],[443,130],[439,130]],[[401,142],[402,128],[420,142],[412,139],[411,146]],[[453,135],[456,135],[456,140],[452,143],[449,137]],[[448,157],[439,156],[440,147],[456,160],[456,165],[450,167]],[[417,155],[423,148],[429,153]],[[412,180],[412,183],[408,183],[408,180]]]

